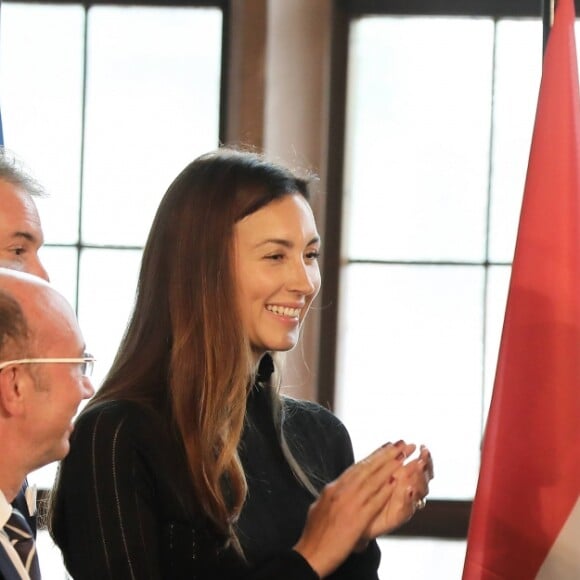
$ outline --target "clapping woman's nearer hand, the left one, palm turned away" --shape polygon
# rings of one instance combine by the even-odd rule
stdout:
[[[348,557],[385,510],[395,490],[394,474],[414,450],[404,441],[384,445],[329,483],[310,506],[294,549],[321,578]]]

